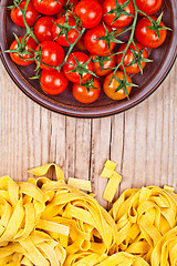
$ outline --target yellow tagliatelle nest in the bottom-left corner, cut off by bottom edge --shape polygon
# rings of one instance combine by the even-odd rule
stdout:
[[[61,266],[65,257],[65,250],[58,242],[38,231],[23,241],[0,247],[0,266]]]

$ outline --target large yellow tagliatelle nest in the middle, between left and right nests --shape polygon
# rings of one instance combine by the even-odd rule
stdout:
[[[35,175],[45,174],[51,165],[48,165]],[[31,171],[33,172],[33,171]],[[40,190],[48,197],[48,205],[37,224],[50,236],[60,242],[67,253],[92,252],[95,254],[108,254],[115,246],[116,225],[110,214],[90,195],[61,182],[52,182],[45,177],[30,180],[29,182],[40,186]],[[82,183],[82,181],[81,181]],[[63,225],[70,227],[69,237],[60,234],[59,231],[49,231],[44,224]],[[42,225],[43,223],[43,225]]]

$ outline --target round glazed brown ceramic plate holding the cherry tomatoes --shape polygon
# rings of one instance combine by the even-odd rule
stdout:
[[[10,1],[2,0],[0,8],[0,49],[4,51],[9,49],[13,41],[13,32],[22,35],[23,29],[17,27],[10,19],[10,11],[6,7]],[[167,76],[177,55],[177,1],[164,0],[162,9],[157,16],[164,12],[163,21],[167,27],[173,29],[168,31],[165,43],[153,49],[149,58],[153,63],[148,63],[144,70],[144,74],[136,74],[133,81],[138,84],[131,93],[131,100],[113,101],[108,99],[102,91],[98,100],[92,104],[82,104],[74,100],[71,88],[69,86],[62,94],[56,96],[46,95],[39,85],[39,81],[30,80],[29,76],[34,75],[35,65],[18,66],[11,60],[9,54],[1,52],[1,60],[15,84],[32,100],[39,104],[72,116],[79,117],[98,117],[123,112],[150,95]]]

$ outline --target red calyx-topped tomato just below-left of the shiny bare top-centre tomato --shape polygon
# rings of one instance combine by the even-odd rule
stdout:
[[[66,17],[61,17],[61,18],[56,19],[55,22],[60,25],[64,25],[65,20],[66,20]],[[75,25],[75,20],[72,17],[69,17],[67,25]],[[52,27],[53,38],[55,39],[56,42],[59,42],[63,47],[70,47],[70,44],[73,44],[75,42],[75,40],[79,38],[79,32],[76,31],[76,29],[69,30],[69,32],[67,32],[69,42],[67,42],[64,33],[62,35],[58,37],[60,34],[60,32],[61,32],[61,29],[59,28],[59,25],[53,23],[53,27]]]

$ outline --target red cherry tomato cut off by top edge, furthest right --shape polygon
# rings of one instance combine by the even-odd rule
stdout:
[[[136,0],[138,9],[146,14],[154,14],[162,7],[163,0]]]

